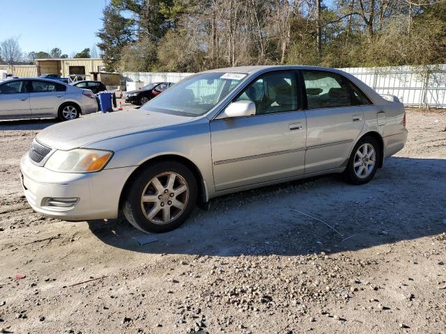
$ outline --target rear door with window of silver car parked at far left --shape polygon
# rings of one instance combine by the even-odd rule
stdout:
[[[57,117],[57,109],[65,99],[66,86],[54,81],[31,81],[32,117]]]

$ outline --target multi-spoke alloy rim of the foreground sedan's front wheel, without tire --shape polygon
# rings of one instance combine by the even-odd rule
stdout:
[[[161,173],[144,187],[141,209],[148,221],[162,225],[178,218],[188,200],[189,187],[185,179],[177,173]]]

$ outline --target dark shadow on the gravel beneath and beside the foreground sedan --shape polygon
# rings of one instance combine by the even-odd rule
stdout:
[[[336,253],[445,232],[445,189],[446,159],[391,157],[368,184],[328,175],[243,191],[215,198],[164,234],[141,233],[124,219],[89,228],[105,244],[141,253]],[[148,236],[156,241],[144,244]]]

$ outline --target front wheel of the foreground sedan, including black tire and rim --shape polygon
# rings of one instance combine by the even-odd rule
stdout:
[[[123,214],[143,232],[168,232],[178,228],[197,202],[194,174],[174,161],[162,161],[134,177],[123,201]]]

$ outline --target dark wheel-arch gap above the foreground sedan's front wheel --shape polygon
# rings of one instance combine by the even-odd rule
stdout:
[[[121,196],[119,197],[119,209],[121,209],[125,193],[128,191],[128,187],[132,184],[132,180],[134,180],[134,178],[137,177],[140,171],[144,170],[146,166],[150,164],[155,164],[160,161],[174,161],[183,164],[187,168],[189,168],[191,172],[194,174],[195,179],[197,180],[197,187],[198,187],[197,192],[199,193],[197,204],[208,202],[208,189],[206,186],[206,182],[204,181],[203,175],[201,175],[201,171],[199,170],[197,165],[194,164],[190,159],[187,159],[186,157],[183,157],[178,154],[163,154],[147,159],[142,164],[140,164],[135,170],[133,170],[128,179],[125,181],[123,189],[121,190]]]

